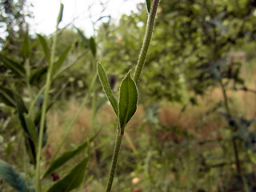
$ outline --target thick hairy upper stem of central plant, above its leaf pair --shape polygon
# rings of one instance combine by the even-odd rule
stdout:
[[[154,30],[154,20],[158,10],[158,4],[159,0],[153,0],[152,6],[150,8],[150,14],[146,23],[146,33],[142,44],[142,50],[138,56],[137,66],[134,72],[134,82],[136,82],[136,84],[138,83],[138,79],[142,73],[142,68],[146,60],[146,54],[150,47],[150,41]]]

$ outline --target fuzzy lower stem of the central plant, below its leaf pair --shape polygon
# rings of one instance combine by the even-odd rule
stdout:
[[[107,186],[106,186],[106,192],[110,192],[111,187],[112,187],[115,169],[118,164],[118,154],[119,154],[120,146],[122,143],[122,136],[123,136],[123,134],[121,133],[121,129],[118,127],[118,134],[116,136],[116,141],[115,141],[115,145],[114,145],[114,154],[112,156],[111,170],[110,170],[109,180],[108,180]]]

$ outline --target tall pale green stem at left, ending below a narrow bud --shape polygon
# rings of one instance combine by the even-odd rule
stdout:
[[[42,104],[42,115],[41,115],[41,121],[40,121],[37,162],[36,162],[36,170],[35,170],[35,191],[36,192],[42,191],[41,184],[40,184],[40,162],[41,162],[40,160],[41,160],[41,153],[42,153],[42,135],[43,135],[43,130],[45,126],[47,102],[48,102],[48,96],[49,96],[49,90],[50,90],[52,70],[54,66],[54,54],[55,54],[55,48],[56,48],[56,42],[57,42],[57,34],[58,34],[58,25],[56,26],[56,32],[54,34],[54,42],[51,49],[52,53],[50,55],[49,69],[47,71],[47,77],[46,77],[46,90],[44,93],[43,104]]]

